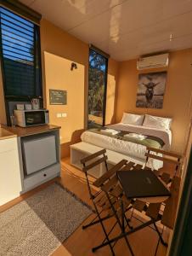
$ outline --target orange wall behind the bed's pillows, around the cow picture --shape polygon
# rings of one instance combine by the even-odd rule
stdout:
[[[123,112],[149,113],[157,116],[172,117],[172,150],[184,151],[185,133],[189,126],[189,102],[192,93],[192,49],[170,54],[167,68],[167,84],[162,109],[136,108],[138,71],[136,60],[121,61],[116,98],[116,122]],[[165,70],[163,68],[142,71],[149,73]]]

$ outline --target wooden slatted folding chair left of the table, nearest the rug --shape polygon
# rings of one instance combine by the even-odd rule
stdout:
[[[116,198],[111,198],[111,201],[109,201],[105,193],[102,192],[100,188],[101,186],[103,186],[104,183],[108,181],[110,182],[110,184],[116,184],[118,182],[116,178],[116,172],[121,170],[121,168],[126,165],[127,160],[121,160],[118,164],[116,164],[116,166],[113,166],[112,168],[110,168],[110,170],[108,170],[108,166],[106,162],[107,156],[105,155],[105,153],[106,153],[106,150],[103,149],[81,160],[81,163],[83,165],[82,171],[85,172],[86,180],[88,183],[88,192],[90,195],[90,199],[93,202],[93,207],[96,212],[96,218],[93,218],[93,220],[89,224],[83,225],[82,229],[84,230],[90,226],[93,226],[94,224],[100,223],[102,230],[104,231],[104,236],[105,236],[104,241],[110,241],[109,235],[112,232],[112,230],[114,230],[117,224],[117,221],[112,226],[110,231],[107,232],[107,230],[104,227],[104,220],[112,218],[116,215],[116,211],[114,213],[114,211],[111,209],[110,202],[112,203],[113,206],[116,206],[116,204],[118,203],[118,200]],[[99,177],[95,182],[93,182],[93,184],[91,184],[89,181],[88,171],[95,166],[99,166],[100,164],[104,164],[106,168],[106,172],[104,173],[103,176]],[[99,191],[95,193],[95,191],[93,191],[93,188],[99,189]],[[116,210],[118,210],[118,207]],[[104,216],[101,217],[101,213]],[[128,220],[127,220],[127,223],[128,223]],[[102,243],[104,243],[104,241]],[[112,243],[108,243],[108,245],[110,246],[110,251],[112,255],[115,255],[113,250],[113,247],[115,246],[115,244],[112,245]],[[128,243],[128,247],[130,247],[129,243]],[[93,248],[93,252],[95,251],[96,249]],[[131,247],[130,247],[130,251],[133,255]]]

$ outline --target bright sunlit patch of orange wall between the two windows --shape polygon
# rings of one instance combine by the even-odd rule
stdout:
[[[73,131],[84,128],[84,80],[85,67],[77,63],[77,69],[71,71],[71,61],[58,55],[44,52],[45,84],[47,108],[50,122],[61,125],[60,142],[71,141]],[[66,105],[50,105],[49,89],[66,90]],[[57,113],[66,113],[58,118]]]

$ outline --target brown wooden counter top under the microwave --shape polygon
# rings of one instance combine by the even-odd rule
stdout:
[[[37,125],[37,126],[26,127],[26,128],[19,127],[19,126],[15,126],[15,127],[3,126],[2,129],[4,131],[7,131],[9,134],[14,135],[14,137],[25,137],[25,136],[29,136],[29,135],[38,134],[38,133],[59,130],[60,126]]]

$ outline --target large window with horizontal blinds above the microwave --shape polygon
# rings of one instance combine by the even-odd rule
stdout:
[[[1,7],[0,39],[5,98],[42,96],[39,26]]]

